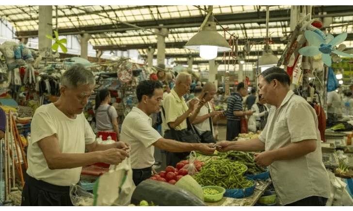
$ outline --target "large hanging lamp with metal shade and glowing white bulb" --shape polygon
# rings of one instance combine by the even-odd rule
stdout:
[[[184,48],[200,51],[203,59],[214,59],[218,52],[230,51],[231,47],[224,37],[216,30],[216,23],[212,15],[213,6],[209,6],[208,14],[199,31],[184,46]]]

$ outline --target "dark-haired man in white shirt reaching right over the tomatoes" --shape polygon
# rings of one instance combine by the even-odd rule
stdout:
[[[213,144],[184,143],[164,139],[152,127],[152,113],[158,113],[162,105],[163,89],[159,81],[142,81],[136,88],[139,104],[133,107],[121,126],[120,138],[131,144],[131,168],[133,181],[138,185],[152,176],[154,146],[168,152],[188,152],[198,150],[212,154]]]

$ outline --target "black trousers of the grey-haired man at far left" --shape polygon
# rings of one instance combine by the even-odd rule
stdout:
[[[27,176],[21,206],[73,206],[70,186],[59,186]]]

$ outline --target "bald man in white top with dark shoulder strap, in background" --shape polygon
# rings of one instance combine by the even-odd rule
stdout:
[[[196,129],[196,134],[200,137],[201,142],[211,143],[216,142],[214,137],[213,123],[216,123],[218,118],[223,115],[223,111],[213,111],[213,108],[210,104],[210,100],[216,94],[216,85],[212,82],[207,82],[202,88],[195,87],[194,94],[196,98],[203,98],[207,92],[207,96],[204,98],[206,103],[200,108],[200,112],[197,113],[196,118],[191,122]],[[189,106],[189,102],[186,104]],[[210,134],[212,134],[212,137]]]

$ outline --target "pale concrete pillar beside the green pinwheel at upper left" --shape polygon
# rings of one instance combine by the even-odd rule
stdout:
[[[51,42],[52,40],[46,37],[47,34],[53,35],[52,29],[52,6],[39,5],[39,23],[38,23],[38,49],[41,56],[52,55]],[[55,35],[54,35],[55,36]],[[55,37],[54,37],[55,38]]]

